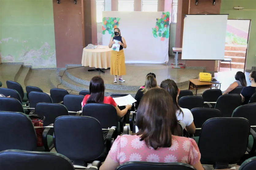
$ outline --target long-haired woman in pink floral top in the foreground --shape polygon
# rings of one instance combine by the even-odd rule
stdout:
[[[197,143],[174,136],[178,128],[176,106],[160,88],[147,91],[137,110],[136,135],[118,136],[100,170],[114,170],[128,161],[183,162],[204,170]]]

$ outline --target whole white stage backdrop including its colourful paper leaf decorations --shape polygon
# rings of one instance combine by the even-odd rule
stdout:
[[[125,63],[165,63],[169,50],[169,12],[102,12],[102,45],[119,28],[127,48]]]

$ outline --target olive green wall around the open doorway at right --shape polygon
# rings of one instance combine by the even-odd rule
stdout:
[[[233,9],[234,6],[246,10]],[[251,20],[246,59],[246,70],[251,70],[251,67],[256,66],[256,0],[221,0],[220,13],[229,14],[228,19]]]

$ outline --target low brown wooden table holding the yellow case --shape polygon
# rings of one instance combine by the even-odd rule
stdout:
[[[190,79],[189,80],[189,90],[196,90],[197,95],[197,89],[212,89],[216,87],[217,84],[221,83],[211,83],[206,81],[199,81],[198,78],[196,79]]]

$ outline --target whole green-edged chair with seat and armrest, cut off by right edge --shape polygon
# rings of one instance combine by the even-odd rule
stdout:
[[[232,117],[241,117],[241,118],[246,118],[251,126],[256,126],[256,103],[250,103],[250,104],[245,104],[242,106],[237,107],[233,114]],[[248,142],[248,147],[247,147],[247,152],[249,154],[256,154],[256,127],[251,127],[250,135],[249,135],[249,142]]]

